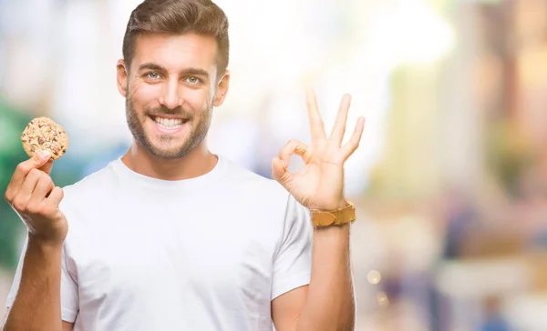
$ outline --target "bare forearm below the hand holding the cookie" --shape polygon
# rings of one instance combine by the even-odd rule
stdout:
[[[21,281],[4,331],[61,330],[60,284],[62,246],[29,238]]]

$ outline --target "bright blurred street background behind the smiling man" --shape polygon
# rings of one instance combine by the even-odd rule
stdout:
[[[57,186],[126,151],[115,65],[138,4],[0,0],[3,192],[34,116],[69,135]],[[346,92],[349,125],[366,116],[346,163],[358,331],[547,329],[547,0],[217,4],[232,81],[213,152],[270,176],[286,141],[309,141],[309,86],[327,127]],[[0,304],[24,230],[2,200]]]

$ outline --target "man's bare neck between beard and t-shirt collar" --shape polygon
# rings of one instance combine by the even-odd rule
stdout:
[[[212,171],[217,161],[218,157],[203,143],[181,158],[165,159],[150,155],[142,146],[133,142],[129,151],[121,157],[121,162],[134,172],[162,180],[182,180],[205,175]]]

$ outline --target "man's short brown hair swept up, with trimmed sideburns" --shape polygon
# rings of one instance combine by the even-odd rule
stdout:
[[[228,17],[211,0],[145,0],[131,12],[123,37],[126,70],[129,70],[135,55],[135,41],[139,34],[182,35],[194,32],[215,37],[220,77],[229,60],[228,25]]]

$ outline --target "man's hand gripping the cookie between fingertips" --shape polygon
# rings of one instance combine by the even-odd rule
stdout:
[[[17,165],[5,200],[25,223],[29,238],[57,246],[65,241],[68,224],[59,210],[63,189],[55,186],[49,176],[52,165],[48,152],[36,153]]]

